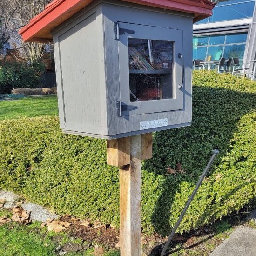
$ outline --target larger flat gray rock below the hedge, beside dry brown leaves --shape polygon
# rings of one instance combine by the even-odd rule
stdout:
[[[47,209],[34,203],[27,202],[22,204],[22,207],[24,210],[31,212],[30,216],[31,216],[32,222],[33,221],[46,222],[47,219],[59,218],[58,215],[52,214]]]

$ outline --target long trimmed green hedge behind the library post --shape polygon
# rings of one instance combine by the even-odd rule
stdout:
[[[143,163],[142,226],[166,235],[213,148],[220,156],[179,231],[198,228],[256,196],[256,83],[197,71],[191,127],[154,134],[154,157]],[[58,118],[0,121],[0,187],[59,214],[119,224],[119,174],[106,165],[106,142],[63,135]],[[181,162],[186,174],[166,176]]]

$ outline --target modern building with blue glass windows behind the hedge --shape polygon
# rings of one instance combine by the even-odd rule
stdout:
[[[241,63],[255,60],[255,0],[214,1],[213,15],[193,26],[193,58],[210,61],[234,57]]]

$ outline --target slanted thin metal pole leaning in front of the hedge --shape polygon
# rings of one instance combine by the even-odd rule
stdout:
[[[194,196],[195,196],[197,190],[198,190],[199,187],[201,186],[201,183],[202,183],[203,179],[204,179],[205,176],[207,175],[207,173],[208,173],[208,171],[209,171],[209,168],[211,167],[213,161],[215,160],[216,156],[217,156],[219,153],[220,153],[220,151],[219,151],[218,149],[215,149],[215,150],[213,151],[213,154],[212,154],[212,156],[211,156],[211,159],[209,160],[209,162],[208,162],[206,168],[204,169],[204,171],[203,171],[203,173],[202,173],[202,175],[201,175],[199,181],[197,182],[193,193],[189,196],[189,200],[188,200],[188,202],[187,202],[185,208],[183,209],[182,214],[180,215],[178,221],[177,221],[176,224],[175,224],[175,227],[174,227],[173,230],[172,230],[172,233],[170,234],[170,236],[169,236],[169,238],[168,238],[168,241],[166,242],[164,248],[162,249],[161,256],[164,256],[166,250],[168,249],[168,246],[169,246],[169,244],[171,243],[171,241],[172,241],[172,239],[173,239],[173,236],[175,235],[175,232],[176,232],[176,230],[178,229],[180,223],[182,222],[182,219],[183,219],[183,217],[184,217],[184,215],[185,215],[187,209],[189,208],[190,203],[192,202],[192,200],[193,200],[193,198],[194,198]]]

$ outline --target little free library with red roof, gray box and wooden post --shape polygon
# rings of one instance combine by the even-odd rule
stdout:
[[[107,139],[119,166],[121,256],[141,256],[141,160],[192,121],[192,24],[208,0],[54,0],[20,30],[53,42],[61,128]]]

